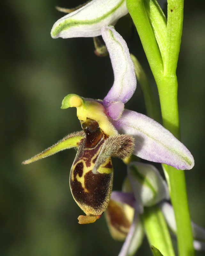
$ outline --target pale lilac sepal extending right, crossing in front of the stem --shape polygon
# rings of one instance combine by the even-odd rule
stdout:
[[[125,109],[121,118],[113,121],[113,124],[120,133],[134,137],[134,155],[148,161],[169,164],[176,169],[193,168],[194,159],[190,151],[153,119]]]

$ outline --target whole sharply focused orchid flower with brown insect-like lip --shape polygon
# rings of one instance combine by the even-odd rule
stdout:
[[[70,187],[76,203],[86,213],[78,218],[82,224],[94,222],[107,208],[113,183],[111,156],[125,158],[133,153],[177,169],[191,169],[194,165],[189,150],[161,124],[124,109],[136,89],[134,65],[126,42],[113,27],[103,27],[101,34],[114,70],[112,88],[103,100],[68,94],[61,108],[76,107],[83,131],[67,135],[23,162],[29,164],[67,148],[78,148]]]

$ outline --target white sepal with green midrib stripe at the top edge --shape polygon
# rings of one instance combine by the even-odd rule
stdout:
[[[99,36],[103,26],[115,25],[117,20],[127,13],[125,0],[92,0],[56,21],[51,36],[52,38]]]

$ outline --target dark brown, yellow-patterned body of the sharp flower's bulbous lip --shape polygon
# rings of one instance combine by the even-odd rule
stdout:
[[[107,208],[113,186],[113,165],[108,157],[94,174],[92,168],[107,139],[99,124],[87,119],[82,128],[85,138],[77,151],[70,172],[70,188],[76,203],[87,215],[101,215]]]

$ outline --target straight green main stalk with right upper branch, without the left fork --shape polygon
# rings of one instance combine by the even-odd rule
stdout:
[[[180,139],[177,104],[177,62],[180,51],[183,26],[183,0],[168,0],[167,37],[164,52],[164,86],[160,95],[162,120],[164,127]],[[170,96],[173,97],[170,101]],[[181,256],[193,256],[193,234],[190,222],[186,181],[184,171],[164,165],[169,176],[170,197],[177,223],[178,251]]]

